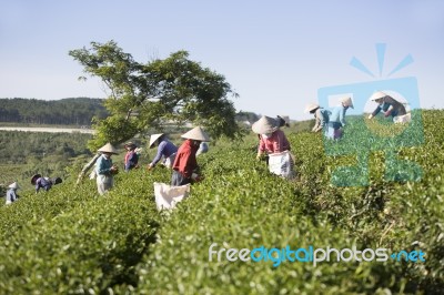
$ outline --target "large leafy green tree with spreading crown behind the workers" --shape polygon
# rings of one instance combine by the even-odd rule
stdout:
[[[213,138],[241,135],[228,99],[238,94],[223,75],[189,60],[186,51],[142,64],[114,41],[91,42],[91,47],[69,52],[110,91],[104,102],[110,115],[94,121],[91,150],[107,142],[121,143],[149,128],[162,129],[162,123],[171,121],[203,125]]]

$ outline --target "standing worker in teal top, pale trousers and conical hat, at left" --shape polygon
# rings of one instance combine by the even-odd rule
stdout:
[[[98,150],[101,153],[95,163],[97,185],[99,194],[104,194],[114,185],[114,174],[119,173],[118,166],[112,164],[111,155],[118,154],[111,143]]]

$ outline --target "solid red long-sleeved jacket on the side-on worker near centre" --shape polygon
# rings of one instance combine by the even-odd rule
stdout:
[[[172,169],[179,171],[185,179],[190,179],[193,171],[198,169],[195,159],[198,150],[199,145],[195,146],[191,140],[185,140],[178,150]]]

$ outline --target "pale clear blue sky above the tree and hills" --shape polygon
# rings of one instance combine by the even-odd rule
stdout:
[[[412,77],[421,108],[444,109],[441,0],[0,0],[0,98],[105,98],[68,52],[110,40],[141,63],[189,51],[225,77],[238,111],[306,120],[320,89]]]

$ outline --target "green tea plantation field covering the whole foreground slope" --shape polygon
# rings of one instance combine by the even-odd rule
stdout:
[[[89,180],[23,194],[0,205],[0,294],[442,294],[444,111],[418,115],[421,126],[398,131],[398,152],[384,151],[390,140],[359,139],[370,151],[363,186],[333,185],[332,175],[361,163],[356,153],[364,148],[290,132],[294,181],[255,161],[253,136],[218,143],[198,159],[205,180],[171,214],[155,208],[153,182],[170,181],[160,167],[121,172],[107,196]],[[351,120],[344,144],[364,124]],[[422,173],[400,181],[403,166],[392,165],[394,159],[416,163]],[[346,180],[365,182],[353,171],[345,170]],[[425,262],[218,262],[216,255],[209,261],[213,243],[215,251],[421,250]]]

